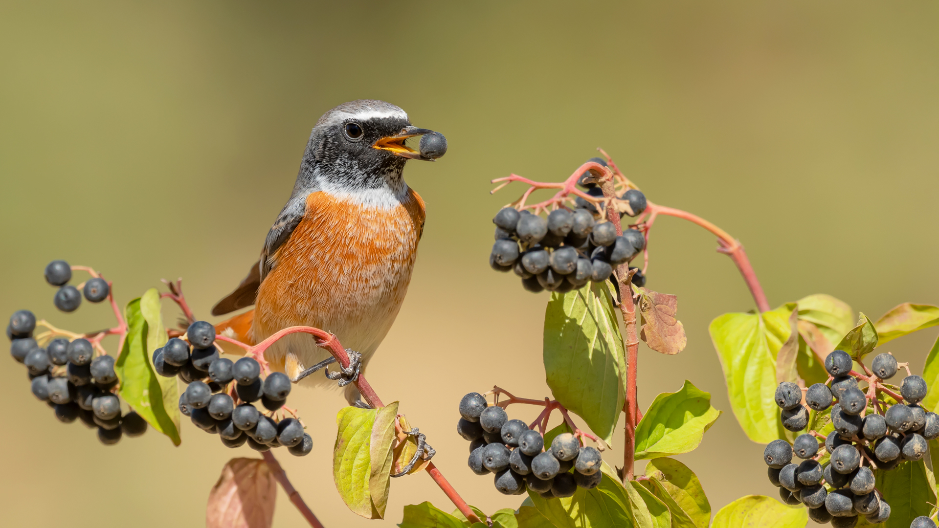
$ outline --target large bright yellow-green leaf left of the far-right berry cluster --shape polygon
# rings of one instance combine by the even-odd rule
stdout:
[[[753,442],[785,437],[776,406],[776,356],[789,338],[795,304],[763,314],[724,314],[709,327],[727,380],[731,410]]]

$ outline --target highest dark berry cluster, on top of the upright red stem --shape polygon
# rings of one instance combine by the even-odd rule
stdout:
[[[593,158],[592,162],[606,162]],[[603,196],[585,173],[580,185],[587,193]],[[645,195],[636,189],[620,197],[627,203],[632,216],[645,210]],[[574,210],[556,209],[546,218],[530,210],[504,208],[492,219],[496,225],[496,242],[489,255],[489,265],[497,272],[515,272],[522,287],[531,292],[543,290],[566,292],[590,281],[604,282],[613,268],[628,262],[645,249],[645,237],[637,229],[626,229],[616,235],[616,227],[602,218],[589,201],[577,197]],[[633,283],[645,285],[641,272],[633,275]]]

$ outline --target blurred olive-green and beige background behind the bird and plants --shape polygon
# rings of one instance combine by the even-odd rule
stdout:
[[[445,133],[450,151],[408,164],[427,223],[368,377],[427,433],[470,504],[517,507],[469,472],[454,432],[469,391],[547,396],[547,295],[486,265],[490,219],[523,188],[490,196],[488,180],[563,179],[602,146],[651,200],[743,241],[774,306],[829,293],[877,318],[897,303],[939,303],[937,15],[926,3],[843,1],[3,2],[0,313],[110,326],[104,305],[54,309],[41,272],[66,258],[102,270],[121,303],[184,277],[207,316],[258,255],[316,118],[343,101],[392,101]],[[777,496],[707,334],[712,318],[753,306],[715,247],[695,225],[655,224],[648,287],[679,295],[688,345],[671,357],[643,346],[639,358],[642,408],[689,379],[725,411],[679,457],[714,511],[747,493]],[[918,372],[935,334],[885,349]],[[178,448],[152,430],[105,447],[59,424],[11,360],[0,397],[8,526],[199,526],[224,462],[256,456],[188,422]],[[298,390],[291,404],[316,447],[280,458],[327,526],[392,525],[425,500],[451,509],[416,475],[393,482],[388,520],[356,517],[331,481],[340,393]],[[622,432],[614,440],[606,456],[622,464]],[[275,525],[302,526],[280,493]]]

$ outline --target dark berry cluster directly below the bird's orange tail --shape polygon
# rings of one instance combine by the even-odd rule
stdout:
[[[284,445],[298,457],[310,453],[313,437],[303,431],[300,420],[274,419],[290,394],[290,379],[283,372],[272,372],[262,380],[261,365],[254,358],[237,362],[220,358],[215,327],[206,321],[193,322],[186,338],[189,343],[174,337],[153,352],[157,374],[178,376],[188,383],[179,396],[179,412],[196,427],[218,434],[228,447],[248,443],[256,451],[268,451]],[[254,407],[258,400],[267,412]]]

